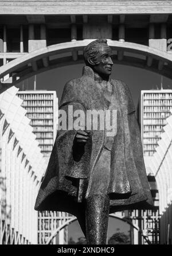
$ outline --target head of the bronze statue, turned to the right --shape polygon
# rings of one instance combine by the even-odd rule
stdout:
[[[106,39],[92,41],[84,48],[85,64],[101,77],[109,77],[112,70],[112,50]]]

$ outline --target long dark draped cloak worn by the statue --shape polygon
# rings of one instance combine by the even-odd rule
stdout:
[[[88,66],[83,68],[82,77],[66,83],[60,109],[67,113],[67,130],[57,132],[36,199],[37,211],[64,211],[77,216],[85,198],[101,192],[110,196],[110,213],[153,205],[130,90],[126,83],[110,79],[112,93],[108,94],[102,83],[107,81]],[[68,117],[75,119],[69,106],[73,112],[83,110],[85,116],[87,110],[116,110],[115,135],[107,136],[106,127],[92,128],[89,140],[76,156],[77,131],[69,128]]]

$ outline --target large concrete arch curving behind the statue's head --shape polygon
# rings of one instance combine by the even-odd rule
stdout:
[[[83,62],[83,48],[93,39],[44,47],[0,67],[0,93],[28,77],[56,67]],[[172,54],[135,43],[108,40],[114,63],[140,67],[172,78]],[[5,77],[6,76],[6,77]]]

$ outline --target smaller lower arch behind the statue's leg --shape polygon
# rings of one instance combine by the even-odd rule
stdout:
[[[110,217],[114,217],[115,219],[118,220],[122,220],[126,223],[128,223],[130,226],[132,226],[133,228],[135,228],[136,230],[138,230],[138,232],[141,232],[141,235],[143,236],[143,239],[146,240],[146,242],[148,244],[150,244],[151,242],[147,239],[147,237],[145,235],[143,235],[142,230],[140,230],[140,228],[138,226],[136,226],[135,224],[131,223],[130,220],[126,219],[126,218],[122,218],[122,217],[118,217],[115,216],[113,213],[110,214]],[[58,234],[58,232],[60,232],[60,230],[62,230],[62,228],[68,226],[69,224],[73,223],[74,221],[76,221],[77,218],[75,216],[71,217],[70,219],[68,219],[67,221],[65,221],[65,223],[63,223],[61,226],[59,226],[54,232],[53,234],[49,237],[49,239],[47,240],[46,244],[49,244],[50,241],[54,238],[54,236],[56,236]]]

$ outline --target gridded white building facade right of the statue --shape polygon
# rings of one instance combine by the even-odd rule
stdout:
[[[152,156],[172,108],[172,90],[142,90],[140,95],[141,135],[144,156]]]

